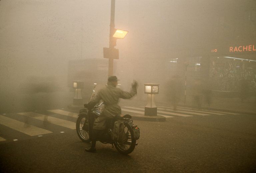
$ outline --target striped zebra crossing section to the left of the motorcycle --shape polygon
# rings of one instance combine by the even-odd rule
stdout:
[[[66,120],[69,117],[68,120]],[[50,133],[64,133],[76,129],[78,113],[65,110],[48,110],[40,112],[22,112],[0,115],[0,142],[17,141],[23,138],[41,137]],[[6,131],[13,134],[6,134]],[[3,137],[3,136],[5,137]]]

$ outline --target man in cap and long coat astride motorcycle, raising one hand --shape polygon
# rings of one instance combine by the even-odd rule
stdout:
[[[90,148],[85,149],[87,152],[95,152],[97,135],[101,130],[106,129],[107,120],[113,119],[116,116],[120,116],[121,107],[118,105],[119,98],[130,99],[137,93],[138,83],[136,81],[132,84],[132,89],[130,92],[123,91],[120,88],[117,88],[117,77],[110,76],[108,78],[107,87],[101,89],[94,100],[90,101],[88,104],[85,104],[85,107],[92,109],[94,105],[99,103],[100,100],[103,100],[105,108],[103,109],[100,116],[94,121],[93,130],[91,135],[92,145]]]

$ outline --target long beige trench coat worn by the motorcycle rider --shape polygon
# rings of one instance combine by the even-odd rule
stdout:
[[[130,99],[137,93],[137,89],[134,87],[130,92],[123,91],[120,88],[116,88],[111,82],[107,87],[101,89],[94,100],[89,102],[89,105],[95,105],[103,100],[105,108],[100,116],[94,121],[93,129],[104,130],[106,128],[106,121],[113,119],[115,116],[121,114],[121,107],[118,105],[119,98]]]

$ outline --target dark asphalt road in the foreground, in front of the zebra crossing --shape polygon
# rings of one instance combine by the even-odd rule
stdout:
[[[96,153],[84,149],[75,130],[0,143],[1,172],[256,172],[256,117],[194,116],[165,122],[134,120],[138,145],[121,155],[97,142]]]

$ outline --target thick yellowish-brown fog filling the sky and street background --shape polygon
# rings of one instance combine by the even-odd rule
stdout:
[[[111,0],[1,0],[0,113],[67,107],[73,103],[73,80],[84,81],[86,103],[94,83],[106,84],[108,59],[103,58],[103,47],[109,47],[110,7]],[[115,28],[128,34],[117,40],[114,75],[124,90],[138,81],[137,104],[146,105],[144,83],[157,83],[156,103],[171,105],[169,94],[177,75],[179,104],[192,105],[198,80],[204,91],[211,90],[216,105],[219,98],[236,103],[242,99],[250,108],[255,104],[256,1],[116,0]],[[211,54],[215,48],[219,52],[240,45],[251,45],[252,50]],[[238,65],[225,57],[254,61],[238,74],[231,70]],[[215,67],[225,63],[230,64],[233,81],[228,84]],[[243,85],[246,93],[239,89],[241,80],[248,82]]]

